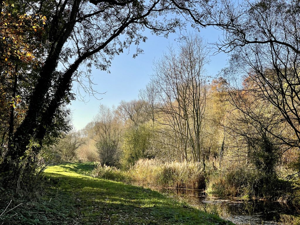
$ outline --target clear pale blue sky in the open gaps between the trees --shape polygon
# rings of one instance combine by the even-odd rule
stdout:
[[[97,70],[95,67],[92,68],[91,75],[93,76],[93,82],[96,84],[93,86],[93,89],[100,93],[106,93],[96,95],[96,98],[87,96],[85,102],[77,99],[71,103],[72,123],[76,130],[84,128],[93,119],[93,116],[98,112],[100,104],[117,106],[122,100],[129,101],[137,98],[139,90],[144,88],[150,80],[153,60],[160,58],[164,52],[168,52],[170,44],[174,47],[178,44],[174,41],[174,39],[178,38],[177,34],[169,35],[167,39],[151,35],[150,32],[147,33],[149,35],[146,43],[141,43],[139,46],[144,50],[144,54],[133,58],[135,46],[132,46],[129,54],[125,51],[114,58],[110,67],[110,73]],[[204,41],[214,43],[218,41],[219,36],[221,37],[222,34],[213,27],[209,27],[201,29],[198,35]],[[224,53],[211,55],[211,62],[206,66],[208,74],[215,76],[218,71],[226,66],[226,59],[227,55]],[[77,87],[77,85],[74,86]],[[98,100],[97,98],[102,99]]]

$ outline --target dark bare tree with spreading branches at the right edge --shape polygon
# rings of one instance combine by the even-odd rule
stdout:
[[[280,132],[271,125],[263,124],[257,110],[239,107],[262,125],[271,135],[289,147],[300,149],[300,77],[298,34],[300,10],[296,1],[253,1],[241,5],[224,4],[224,11],[215,17],[216,23],[228,21],[224,29],[224,40],[218,49],[231,52],[231,67],[227,73],[240,77],[232,85],[238,107],[244,104],[241,89],[273,107]],[[216,14],[214,14],[216,15]],[[241,82],[244,86],[241,87]],[[232,83],[231,83],[232,84]],[[236,103],[236,101],[235,101]],[[290,134],[290,131],[293,134]],[[288,135],[287,135],[288,134]],[[288,149],[288,148],[287,148]],[[300,158],[298,159],[300,171]]]

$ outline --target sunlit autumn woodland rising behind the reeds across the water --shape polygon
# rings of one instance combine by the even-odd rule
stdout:
[[[182,41],[178,50],[169,50],[155,61],[151,81],[138,99],[113,108],[100,105],[92,122],[57,145],[66,149],[65,141],[73,137],[72,154],[61,150],[58,156],[123,169],[140,159],[192,162],[206,174],[218,171],[215,176],[234,171],[231,179],[255,171],[252,185],[262,195],[279,189],[279,184],[287,188],[280,180],[296,181],[296,135],[280,111],[282,106],[268,96],[271,90],[279,92],[280,86],[267,89],[261,80],[275,76],[274,70],[266,69],[263,76],[253,68],[232,74],[233,68],[238,70],[232,58],[230,74],[226,68],[223,76],[210,77],[205,71],[208,48],[195,35]],[[277,78],[273,85],[278,85]],[[75,137],[81,137],[82,145]]]

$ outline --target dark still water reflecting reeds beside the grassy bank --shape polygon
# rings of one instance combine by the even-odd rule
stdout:
[[[299,210],[275,201],[207,196],[203,190],[162,188],[158,191],[238,225],[300,224]]]

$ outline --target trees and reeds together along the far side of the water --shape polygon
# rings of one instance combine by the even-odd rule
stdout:
[[[224,77],[206,75],[207,55],[202,40],[190,35],[155,62],[138,99],[101,105],[83,137],[95,140],[102,166],[129,171],[140,184],[291,201],[298,195],[299,154],[287,109],[264,96],[271,90],[258,72],[231,80],[224,78],[228,69]]]

